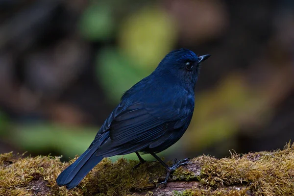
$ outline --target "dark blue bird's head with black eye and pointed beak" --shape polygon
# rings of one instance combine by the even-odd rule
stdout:
[[[210,57],[210,54],[197,56],[189,49],[172,50],[162,59],[155,72],[172,76],[172,78],[194,87],[199,74],[200,63],[208,57]]]

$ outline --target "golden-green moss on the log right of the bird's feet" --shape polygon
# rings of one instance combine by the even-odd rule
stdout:
[[[197,158],[196,158],[197,160]],[[254,195],[294,195],[294,146],[284,150],[232,154],[203,164],[200,182],[215,188],[246,185]]]

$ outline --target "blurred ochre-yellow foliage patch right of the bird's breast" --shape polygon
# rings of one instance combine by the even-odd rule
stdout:
[[[194,138],[193,147],[209,147],[238,131],[240,123],[236,118],[239,115],[243,118],[245,110],[252,105],[252,93],[241,78],[241,75],[234,74],[222,81],[214,91],[196,95],[196,109],[189,127],[193,131],[185,136],[187,140]]]

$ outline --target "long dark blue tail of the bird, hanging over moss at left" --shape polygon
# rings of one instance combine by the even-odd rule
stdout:
[[[73,189],[102,159],[96,156],[97,148],[87,149],[72,165],[59,174],[56,182],[59,186],[66,185]]]

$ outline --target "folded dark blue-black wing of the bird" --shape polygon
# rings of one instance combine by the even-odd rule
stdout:
[[[97,155],[108,157],[138,151],[167,132],[180,128],[186,113],[193,109],[186,107],[184,99],[187,98],[166,102],[166,105],[140,102],[126,108],[118,106],[111,119],[103,124],[109,131],[109,138],[99,147]]]

